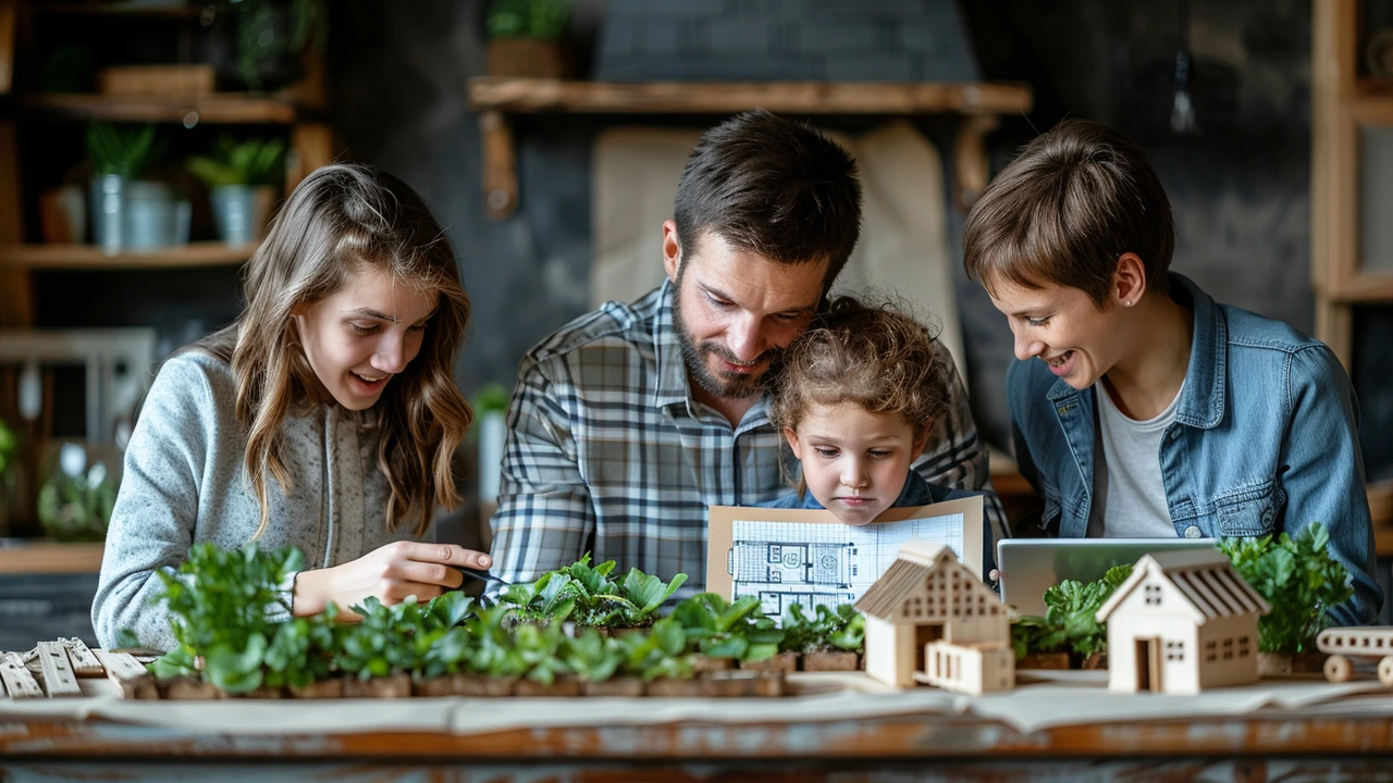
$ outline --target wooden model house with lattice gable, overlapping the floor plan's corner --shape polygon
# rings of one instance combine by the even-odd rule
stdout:
[[[911,539],[857,602],[866,617],[866,673],[981,694],[1015,687],[1010,613],[947,546]]]

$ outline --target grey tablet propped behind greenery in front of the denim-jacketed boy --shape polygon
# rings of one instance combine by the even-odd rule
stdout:
[[[996,543],[1002,600],[1020,614],[1045,614],[1045,591],[1064,580],[1091,582],[1148,552],[1213,548],[1213,538],[1007,538]]]

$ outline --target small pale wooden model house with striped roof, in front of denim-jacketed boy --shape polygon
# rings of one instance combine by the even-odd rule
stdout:
[[[1195,694],[1258,681],[1258,617],[1272,607],[1219,550],[1142,556],[1098,621],[1107,690]]]

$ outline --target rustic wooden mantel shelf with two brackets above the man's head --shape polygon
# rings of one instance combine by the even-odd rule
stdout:
[[[508,77],[469,79],[469,104],[483,131],[483,202],[503,220],[517,210],[517,156],[508,114],[734,114],[762,107],[786,114],[964,117],[953,150],[958,202],[986,187],[983,135],[1000,114],[1031,109],[1015,82],[592,82]]]

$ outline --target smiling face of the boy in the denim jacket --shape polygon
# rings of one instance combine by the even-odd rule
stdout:
[[[1119,305],[1098,309],[1080,288],[1046,284],[1022,288],[1002,283],[992,304],[1006,313],[1015,336],[1015,358],[1038,357],[1074,389],[1088,389],[1126,354],[1119,334]]]

